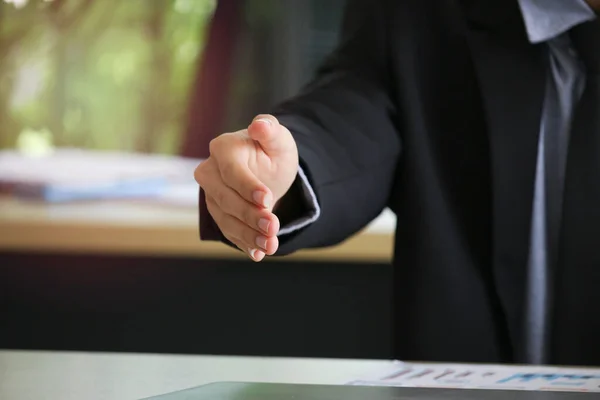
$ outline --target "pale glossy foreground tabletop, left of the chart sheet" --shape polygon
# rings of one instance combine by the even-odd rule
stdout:
[[[213,382],[345,384],[389,361],[0,351],[2,400],[128,400]]]

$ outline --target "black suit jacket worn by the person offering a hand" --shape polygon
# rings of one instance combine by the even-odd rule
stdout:
[[[516,0],[350,0],[339,48],[274,112],[322,208],[279,254],[334,245],[388,206],[395,356],[523,361],[545,73]],[[550,359],[599,365],[600,190],[569,191],[577,175],[567,172]],[[220,239],[204,215],[203,238]]]

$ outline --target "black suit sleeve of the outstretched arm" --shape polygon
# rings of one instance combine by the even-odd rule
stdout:
[[[384,3],[349,0],[339,47],[273,113],[292,132],[320,207],[316,221],[280,237],[277,254],[337,244],[388,203],[401,141],[389,93]]]

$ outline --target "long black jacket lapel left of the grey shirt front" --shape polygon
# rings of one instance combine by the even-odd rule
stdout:
[[[490,143],[492,267],[519,361],[545,54],[528,42],[516,1],[467,3],[468,36]]]

